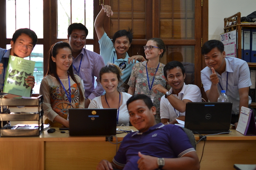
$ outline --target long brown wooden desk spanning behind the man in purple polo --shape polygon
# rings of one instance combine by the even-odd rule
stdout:
[[[118,134],[118,141],[124,136]],[[195,138],[199,140],[198,135]],[[203,141],[197,144],[199,159],[203,145]],[[100,160],[111,161],[115,153],[116,144],[105,142],[105,137],[73,137],[45,130],[39,137],[0,137],[0,170],[95,170]],[[234,164],[255,164],[255,160],[256,136],[232,130],[207,136],[201,170],[234,170]]]

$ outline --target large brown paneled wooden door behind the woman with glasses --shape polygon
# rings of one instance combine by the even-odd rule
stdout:
[[[200,71],[205,67],[201,45],[208,40],[208,0],[105,0],[105,4],[114,12],[104,27],[111,38],[120,29],[133,29],[130,56],[145,56],[147,40],[161,38],[167,51],[160,61],[183,62],[186,84],[201,88]]]

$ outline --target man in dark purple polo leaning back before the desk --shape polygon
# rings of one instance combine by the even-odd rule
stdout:
[[[198,156],[186,133],[176,125],[157,124],[156,108],[148,96],[132,96],[127,108],[131,124],[139,131],[126,135],[113,161],[100,161],[97,170],[200,169]]]

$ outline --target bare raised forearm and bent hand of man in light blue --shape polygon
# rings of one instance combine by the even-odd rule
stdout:
[[[94,28],[98,37],[98,40],[101,39],[102,35],[104,34],[104,20],[107,17],[110,17],[113,15],[113,11],[111,9],[111,6],[103,5],[102,9],[99,11],[99,14],[97,15],[95,21],[94,21]]]

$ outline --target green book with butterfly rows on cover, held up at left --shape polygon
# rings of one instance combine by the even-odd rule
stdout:
[[[29,97],[31,87],[26,83],[28,76],[33,76],[35,61],[10,55],[3,85],[3,93]]]

